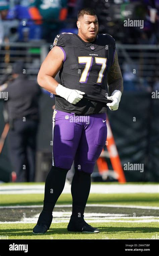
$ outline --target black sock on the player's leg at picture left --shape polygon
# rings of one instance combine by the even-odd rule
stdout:
[[[44,223],[49,228],[52,222],[52,211],[57,199],[61,195],[68,170],[52,166],[45,182],[44,207],[38,223]]]

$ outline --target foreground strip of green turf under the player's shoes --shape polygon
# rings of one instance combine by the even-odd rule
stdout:
[[[44,235],[34,235],[34,224],[3,224],[1,235],[8,239],[153,239],[159,232],[156,223],[92,223],[101,232],[97,234],[76,233],[67,231],[67,223],[54,223]],[[155,239],[155,238],[154,238]]]

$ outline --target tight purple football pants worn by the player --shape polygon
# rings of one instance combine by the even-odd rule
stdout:
[[[107,138],[106,113],[76,116],[54,110],[52,165],[92,173]]]

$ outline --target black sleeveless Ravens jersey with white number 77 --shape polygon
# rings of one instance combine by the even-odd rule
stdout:
[[[75,105],[56,95],[55,108],[78,115],[107,112],[107,74],[114,60],[114,38],[98,34],[95,41],[87,43],[76,34],[61,33],[53,46],[59,46],[64,52],[59,72],[62,85],[85,92]]]

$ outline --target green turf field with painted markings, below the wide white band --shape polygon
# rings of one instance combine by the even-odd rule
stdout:
[[[42,211],[43,199],[43,194],[1,194],[1,239],[159,238],[158,193],[90,194],[85,220],[100,229],[97,234],[67,231],[72,203],[70,194],[59,197],[53,212],[53,222],[47,233],[33,234],[33,227]]]

